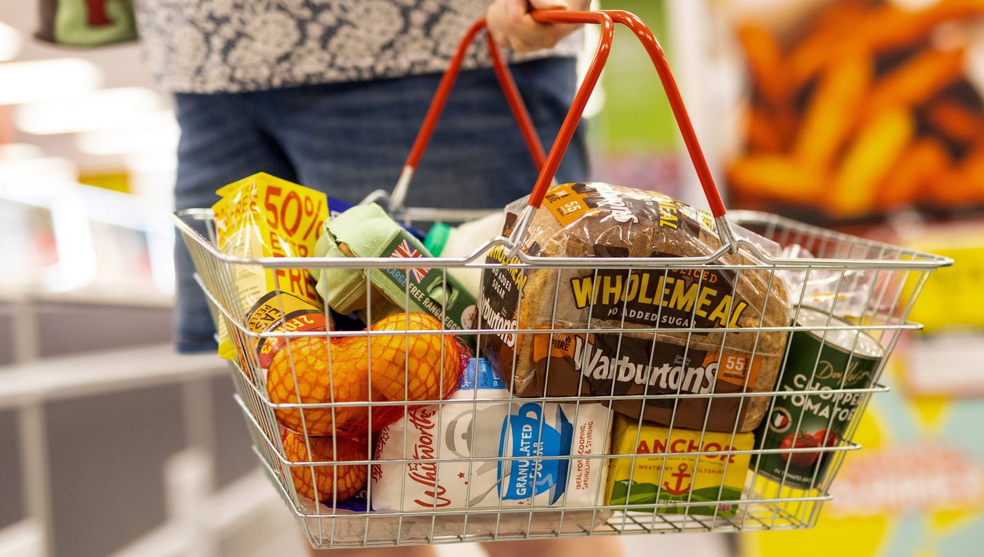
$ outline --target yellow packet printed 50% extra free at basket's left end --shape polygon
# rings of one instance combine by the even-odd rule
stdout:
[[[328,219],[328,196],[265,172],[253,174],[220,188],[215,213],[216,247],[222,253],[246,258],[311,257]],[[229,277],[235,285],[235,317],[249,321],[256,303],[275,290],[306,300],[320,308],[321,300],[307,270],[264,269],[258,265],[232,265]],[[234,360],[243,369],[252,359],[240,341],[233,342],[224,324],[218,329],[218,355]],[[237,336],[238,337],[238,336]],[[253,349],[256,342],[250,342]]]

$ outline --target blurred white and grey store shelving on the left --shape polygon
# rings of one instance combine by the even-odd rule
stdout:
[[[166,213],[12,173],[0,203],[0,557],[263,554],[280,508],[224,364],[170,344]],[[109,272],[107,227],[140,247]]]

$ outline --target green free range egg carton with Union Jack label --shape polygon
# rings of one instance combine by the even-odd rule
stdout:
[[[373,322],[406,311],[443,318],[448,330],[475,326],[475,297],[451,274],[427,268],[424,258],[432,257],[430,252],[378,205],[357,205],[327,220],[315,256],[394,258],[394,269],[363,270],[357,262],[343,269],[312,269],[318,293],[338,313],[355,312],[367,325],[369,310]],[[419,267],[405,269],[411,263],[406,259]],[[366,288],[367,278],[371,288]]]

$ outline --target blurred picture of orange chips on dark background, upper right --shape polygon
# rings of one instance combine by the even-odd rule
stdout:
[[[728,4],[749,86],[724,149],[736,207],[857,219],[984,204],[984,2]]]

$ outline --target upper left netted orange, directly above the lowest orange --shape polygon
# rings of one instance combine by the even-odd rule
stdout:
[[[270,363],[267,375],[270,402],[296,403],[300,394],[301,403],[368,404],[365,345],[365,339],[355,337],[333,340],[329,353],[329,343],[325,339],[303,337],[290,340],[289,344],[284,344],[277,351]],[[294,371],[297,373],[296,383]],[[357,431],[357,424],[366,421],[368,409],[367,406],[278,408],[275,413],[280,424],[291,431],[307,431],[308,435],[322,436],[335,435],[337,430]],[[364,425],[362,429],[365,430]]]

